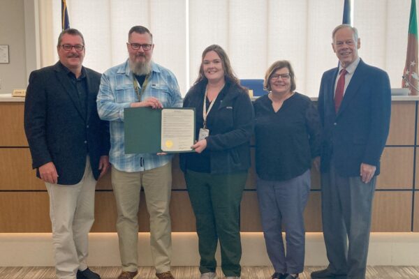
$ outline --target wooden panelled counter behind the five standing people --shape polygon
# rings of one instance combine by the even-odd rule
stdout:
[[[373,232],[419,232],[419,201],[416,199],[419,198],[416,189],[419,188],[419,175],[416,176],[419,174],[419,156],[416,155],[418,102],[418,97],[393,97],[390,135],[381,158],[381,175],[374,197]],[[0,96],[0,233],[51,231],[47,191],[31,169],[23,130],[23,107],[23,98]],[[253,153],[252,147],[252,158]],[[253,167],[242,200],[242,232],[261,231]],[[195,218],[177,156],[172,173],[172,231],[193,232]],[[305,211],[306,229],[307,232],[321,232],[319,174],[312,171],[311,176],[311,194]],[[110,174],[98,181],[95,206],[96,221],[92,232],[115,232],[117,215]],[[143,193],[138,219],[140,232],[147,232],[148,214]]]

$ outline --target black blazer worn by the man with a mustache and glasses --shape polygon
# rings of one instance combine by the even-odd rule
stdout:
[[[110,149],[109,123],[101,121],[96,96],[101,74],[84,68],[87,79],[87,114],[80,110],[78,96],[60,63],[34,70],[24,104],[24,130],[29,142],[32,167],[53,162],[58,183],[73,185],[82,179],[89,154],[94,178],[98,179],[99,159]],[[36,175],[39,177],[37,169]]]

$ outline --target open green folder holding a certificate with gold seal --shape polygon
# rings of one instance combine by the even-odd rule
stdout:
[[[165,123],[163,128],[166,127],[164,129],[162,129],[162,114],[166,116],[163,119]],[[126,154],[191,152],[193,150],[190,146],[195,142],[195,109],[125,108],[124,133]]]

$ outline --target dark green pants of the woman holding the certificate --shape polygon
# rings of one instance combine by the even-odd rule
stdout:
[[[232,174],[185,173],[186,187],[196,217],[200,272],[215,272],[217,241],[221,269],[226,276],[240,276],[240,202],[247,172]]]

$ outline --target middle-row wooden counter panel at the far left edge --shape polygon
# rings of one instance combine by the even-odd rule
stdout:
[[[0,158],[0,190],[46,190],[32,169],[29,148],[0,148]]]

